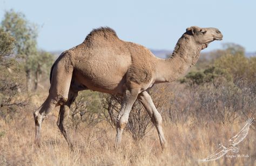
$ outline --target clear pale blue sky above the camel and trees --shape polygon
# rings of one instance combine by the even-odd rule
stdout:
[[[0,18],[14,9],[40,26],[38,46],[63,51],[82,43],[99,26],[110,26],[120,39],[150,49],[172,50],[186,27],[217,27],[222,41],[206,51],[232,42],[256,51],[256,1],[33,1],[0,0]]]

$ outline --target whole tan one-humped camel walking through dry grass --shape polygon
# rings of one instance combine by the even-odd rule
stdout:
[[[142,45],[120,40],[109,27],[91,31],[82,44],[63,52],[52,65],[49,96],[33,114],[36,144],[39,145],[45,116],[60,105],[57,125],[72,148],[65,123],[70,105],[79,91],[91,89],[123,95],[122,108],[117,117],[116,147],[120,144],[131,107],[139,99],[156,126],[161,147],[164,148],[166,140],[162,118],[147,89],[154,84],[176,80],[197,62],[201,50],[222,38],[221,32],[213,27],[188,27],[178,40],[172,56],[160,59]]]

